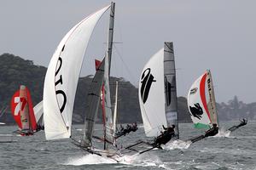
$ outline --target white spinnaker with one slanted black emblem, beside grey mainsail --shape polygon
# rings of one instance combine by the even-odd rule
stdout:
[[[143,126],[148,137],[160,135],[162,125],[167,124],[164,87],[164,49],[162,48],[144,66],[138,88]]]

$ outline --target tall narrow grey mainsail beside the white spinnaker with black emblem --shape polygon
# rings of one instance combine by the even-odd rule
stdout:
[[[165,42],[164,47],[164,77],[166,94],[166,121],[167,127],[175,125],[178,139],[178,116],[177,116],[177,86],[176,70],[173,52],[173,43]]]

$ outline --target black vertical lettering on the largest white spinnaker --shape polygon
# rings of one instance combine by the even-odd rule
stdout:
[[[65,45],[64,45],[63,48],[61,49],[61,52],[63,52],[64,48],[65,48]],[[64,109],[65,109],[66,104],[67,104],[67,95],[66,95],[65,92],[64,92],[63,90],[61,90],[61,89],[56,90],[56,89],[57,89],[56,86],[57,86],[58,84],[62,84],[62,83],[63,83],[63,82],[62,82],[62,75],[59,75],[59,72],[61,71],[61,66],[62,66],[62,59],[61,59],[61,56],[60,56],[59,59],[58,59],[57,69],[56,69],[56,71],[55,71],[55,80],[57,80],[57,81],[55,82],[55,94],[56,94],[56,96],[61,95],[61,97],[62,97],[62,99],[63,99],[62,105],[59,104],[59,105],[61,105],[60,111],[61,111],[61,113],[62,113],[62,112],[64,111]]]

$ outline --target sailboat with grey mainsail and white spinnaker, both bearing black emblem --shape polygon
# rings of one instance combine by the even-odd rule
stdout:
[[[138,94],[146,136],[156,138],[164,131],[163,127],[175,125],[176,135],[172,139],[178,139],[176,70],[172,42],[165,42],[164,48],[154,54],[144,66]],[[127,149],[134,150],[134,146],[138,144],[145,142],[139,141]],[[147,144],[150,145],[148,142]],[[148,150],[155,147],[158,146]]]

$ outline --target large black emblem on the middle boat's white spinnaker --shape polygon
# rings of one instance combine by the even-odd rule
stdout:
[[[141,82],[142,82],[141,96],[144,104],[148,99],[148,94],[149,94],[149,90],[151,88],[152,82],[156,82],[156,80],[154,80],[154,76],[151,74],[150,68],[143,71]]]

